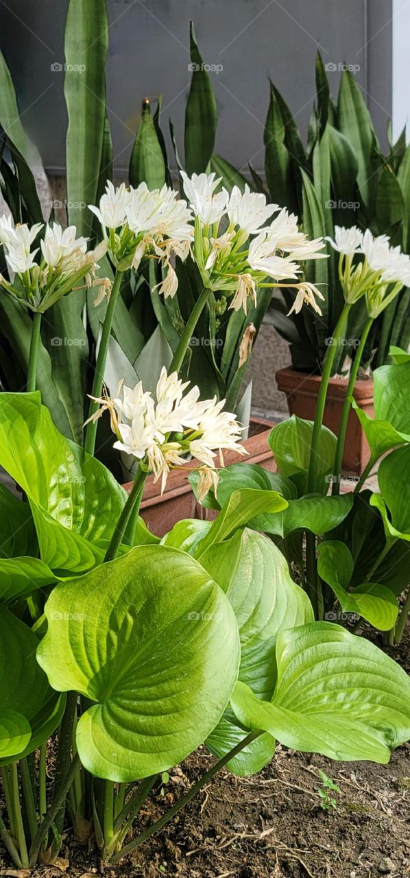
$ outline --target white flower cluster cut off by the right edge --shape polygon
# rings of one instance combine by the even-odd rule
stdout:
[[[369,228],[362,232],[356,226],[335,226],[334,240],[327,241],[340,253],[339,277],[346,301],[353,304],[365,295],[370,317],[377,317],[403,286],[410,286],[410,256],[392,247],[387,235],[374,237]],[[357,256],[362,258],[357,261]]]

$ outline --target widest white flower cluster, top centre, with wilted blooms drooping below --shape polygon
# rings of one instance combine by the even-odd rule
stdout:
[[[166,185],[149,191],[145,183],[137,189],[108,183],[99,207],[90,205],[119,270],[137,269],[143,256],[159,259],[167,270],[159,290],[174,296],[178,282],[171,256],[185,259],[191,253],[204,285],[233,295],[235,310],[243,307],[246,313],[248,298],[255,303],[258,285],[270,277],[276,282],[270,286],[296,280],[285,284],[298,288],[296,309],[308,301],[320,313],[314,296],[323,297],[299,278],[300,263],[326,258],[321,238],[309,241],[299,232],[297,217],[267,204],[248,185],[243,193],[234,186],[229,194],[213,173],[189,177],[182,171],[182,177],[188,203]]]

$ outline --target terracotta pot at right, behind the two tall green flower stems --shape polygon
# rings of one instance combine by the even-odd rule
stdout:
[[[276,373],[278,390],[286,394],[290,414],[313,421],[320,387],[320,375],[308,375],[295,369],[279,369]],[[347,378],[330,378],[325,407],[324,424],[335,435],[342,417],[342,407],[348,385]],[[356,381],[354,397],[366,414],[374,415],[373,381]],[[343,455],[343,471],[360,474],[370,457],[369,445],[353,411],[349,413],[348,430]]]

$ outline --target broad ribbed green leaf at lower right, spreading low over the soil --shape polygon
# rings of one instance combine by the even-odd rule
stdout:
[[[269,731],[287,747],[329,759],[385,764],[410,737],[410,680],[363,637],[311,623],[277,637],[277,687],[261,701],[238,682],[231,696],[245,729]]]

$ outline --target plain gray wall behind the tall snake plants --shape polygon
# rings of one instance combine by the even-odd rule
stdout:
[[[67,119],[63,76],[51,65],[64,61],[65,11],[66,0],[0,5],[2,48],[25,126],[47,169],[57,173],[64,169]],[[107,100],[119,172],[127,167],[145,95],[162,93],[163,126],[173,119],[183,147],[190,18],[204,60],[222,68],[212,73],[217,149],[236,166],[246,169],[251,161],[263,170],[267,71],[306,133],[318,48],[335,68],[329,72],[334,93],[342,62],[354,65],[384,140],[392,112],[392,0],[108,0],[108,12]]]

